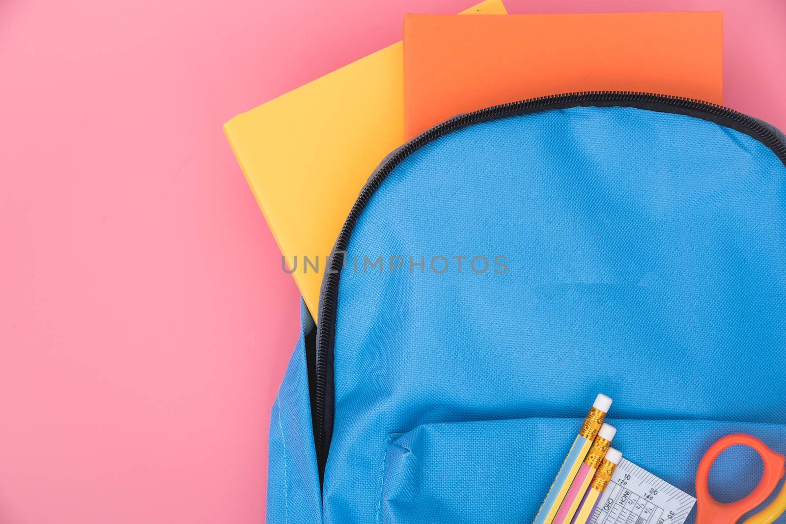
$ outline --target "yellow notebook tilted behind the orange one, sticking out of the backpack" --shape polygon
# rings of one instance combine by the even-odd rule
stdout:
[[[463,13],[507,14],[501,0]],[[403,68],[398,42],[224,124],[314,318],[327,256],[355,198],[404,142]],[[318,260],[318,271],[304,271],[303,257]]]

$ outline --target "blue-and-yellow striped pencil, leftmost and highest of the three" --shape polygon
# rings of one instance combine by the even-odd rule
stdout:
[[[589,409],[589,413],[584,419],[581,431],[578,431],[578,436],[573,441],[571,450],[567,453],[560,471],[556,474],[556,479],[549,488],[549,493],[546,494],[545,500],[538,510],[538,515],[535,515],[533,524],[553,524],[556,512],[560,509],[560,504],[567,494],[567,489],[571,487],[571,482],[576,478],[578,468],[581,467],[582,461],[589,452],[589,447],[592,446],[597,431],[601,429],[601,424],[603,424],[610,406],[612,406],[611,398],[606,395],[597,395],[592,408]]]

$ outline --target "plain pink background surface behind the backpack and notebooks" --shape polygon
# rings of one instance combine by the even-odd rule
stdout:
[[[262,522],[299,297],[222,135],[472,0],[0,2],[0,522]],[[725,102],[786,128],[786,3],[723,10]]]

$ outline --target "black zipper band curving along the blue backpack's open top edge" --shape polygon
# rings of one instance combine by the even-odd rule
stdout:
[[[420,136],[393,151],[391,155],[376,168],[365,187],[358,195],[357,201],[341,228],[336,239],[333,254],[347,251],[349,239],[355,224],[360,217],[365,205],[374,191],[385,180],[388,174],[398,166],[404,158],[411,155],[418,148],[423,147],[432,140],[446,135],[456,129],[461,129],[478,122],[486,122],[496,118],[503,118],[527,113],[564,109],[568,107],[593,106],[593,107],[637,107],[649,111],[689,115],[703,120],[716,122],[722,126],[736,129],[765,144],[771,149],[781,162],[786,166],[786,140],[777,129],[764,122],[733,111],[728,107],[717,104],[708,104],[700,100],[681,98],[679,96],[663,96],[652,93],[636,93],[621,91],[600,91],[585,93],[567,93],[553,96],[541,96],[511,104],[501,104],[466,115],[458,115],[438,126],[428,129]],[[314,443],[317,451],[317,464],[319,469],[320,484],[325,476],[325,464],[328,460],[330,440],[333,428],[333,343],[335,340],[336,299],[343,257],[332,256],[329,267],[326,268],[322,281],[319,299],[319,322],[316,337],[314,380],[310,381],[314,388],[310,391],[311,406],[314,410]]]

